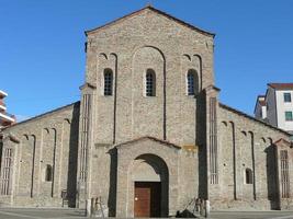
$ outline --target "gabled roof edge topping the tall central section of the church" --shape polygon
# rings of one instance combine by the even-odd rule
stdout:
[[[97,31],[99,31],[99,30],[102,30],[102,28],[104,28],[104,27],[109,27],[109,26],[111,26],[111,25],[113,25],[113,24],[116,24],[116,23],[119,23],[119,22],[124,21],[125,19],[128,19],[128,18],[132,18],[132,16],[134,16],[134,15],[140,14],[140,13],[143,13],[143,12],[146,11],[146,10],[154,11],[154,12],[160,14],[160,15],[166,16],[167,19],[170,19],[170,20],[172,20],[172,21],[176,21],[176,22],[180,23],[181,25],[184,25],[184,26],[187,26],[187,27],[189,27],[189,28],[191,28],[191,30],[193,30],[193,31],[200,32],[200,33],[202,33],[202,34],[204,34],[204,35],[215,37],[215,34],[214,34],[214,33],[210,33],[210,32],[203,31],[203,30],[201,30],[201,28],[199,28],[199,27],[196,27],[196,26],[193,26],[192,24],[189,24],[189,23],[187,23],[187,22],[184,22],[184,21],[182,21],[182,20],[179,20],[179,19],[177,19],[177,18],[174,18],[174,16],[172,16],[172,15],[170,15],[170,14],[164,12],[164,11],[160,11],[160,10],[158,10],[158,9],[155,9],[155,8],[151,7],[151,5],[147,5],[147,7],[143,8],[143,9],[139,9],[138,11],[134,11],[134,12],[127,14],[127,15],[124,15],[124,16],[122,16],[122,18],[120,18],[120,19],[116,19],[116,20],[114,20],[114,21],[112,21],[112,22],[110,22],[110,23],[106,23],[106,24],[102,25],[102,26],[99,26],[99,27],[95,27],[95,28],[86,31],[84,34],[88,36],[89,34],[94,33],[94,32],[97,32]]]

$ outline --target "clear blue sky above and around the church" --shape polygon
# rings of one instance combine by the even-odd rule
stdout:
[[[292,0],[0,0],[0,89],[20,119],[79,100],[83,32],[145,7],[216,33],[221,101],[252,114],[268,82],[293,82]]]

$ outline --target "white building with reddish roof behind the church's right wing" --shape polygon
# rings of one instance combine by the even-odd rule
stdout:
[[[266,95],[259,95],[256,118],[293,134],[293,83],[268,83]]]

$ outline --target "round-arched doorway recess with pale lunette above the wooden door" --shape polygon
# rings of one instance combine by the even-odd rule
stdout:
[[[155,154],[137,157],[131,166],[134,217],[168,217],[169,173]]]

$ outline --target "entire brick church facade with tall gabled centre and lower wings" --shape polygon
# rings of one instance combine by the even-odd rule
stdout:
[[[290,135],[219,102],[214,34],[146,7],[86,35],[80,102],[3,130],[1,206],[293,208]]]

